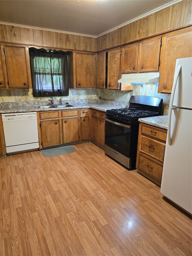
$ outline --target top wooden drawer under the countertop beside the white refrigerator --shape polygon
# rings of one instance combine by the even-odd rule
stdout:
[[[155,140],[163,140],[166,142],[167,131],[152,127],[151,125],[143,125],[141,128],[141,134],[154,138]]]

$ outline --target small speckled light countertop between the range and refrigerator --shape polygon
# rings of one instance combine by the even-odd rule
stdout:
[[[152,116],[152,117],[146,117],[146,118],[140,118],[139,122],[153,125],[162,129],[167,130],[168,125],[168,116]]]

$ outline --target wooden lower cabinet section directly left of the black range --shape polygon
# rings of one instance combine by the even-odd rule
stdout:
[[[105,146],[105,112],[91,110],[91,141],[104,149]]]

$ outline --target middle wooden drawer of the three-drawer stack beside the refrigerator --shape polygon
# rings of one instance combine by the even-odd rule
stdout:
[[[160,141],[153,140],[151,138],[141,135],[140,151],[143,151],[146,154],[163,161],[165,153],[165,144]]]

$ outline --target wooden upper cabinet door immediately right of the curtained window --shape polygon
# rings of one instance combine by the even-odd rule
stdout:
[[[76,53],[76,88],[95,88],[94,53]]]

